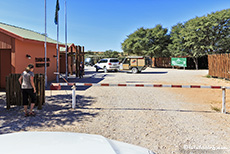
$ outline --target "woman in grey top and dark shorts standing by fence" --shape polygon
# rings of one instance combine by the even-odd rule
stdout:
[[[25,117],[28,116],[35,116],[35,113],[33,112],[33,108],[36,102],[36,88],[34,86],[34,65],[29,64],[26,67],[26,70],[21,74],[19,80],[19,83],[21,85],[22,89],[22,96],[23,96],[23,105],[24,105],[24,112]],[[31,105],[30,105],[30,112],[27,112],[28,108],[28,96],[31,98]]]

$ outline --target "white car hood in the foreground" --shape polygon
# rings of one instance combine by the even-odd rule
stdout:
[[[100,135],[66,132],[20,132],[0,135],[7,154],[154,154],[148,149]]]

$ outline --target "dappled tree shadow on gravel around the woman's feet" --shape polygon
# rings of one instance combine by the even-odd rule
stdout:
[[[77,108],[87,108],[94,103],[93,97],[78,95],[77,100]],[[46,102],[42,110],[35,109],[35,117],[24,117],[23,107],[5,109],[5,95],[0,95],[0,134],[27,131],[29,128],[74,125],[74,122],[87,121],[98,114],[98,111],[71,109],[70,95],[46,97]]]

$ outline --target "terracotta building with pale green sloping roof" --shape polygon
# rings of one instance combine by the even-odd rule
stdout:
[[[22,73],[28,64],[34,64],[35,73],[44,74],[44,40],[40,33],[0,23],[0,88],[5,87],[7,75]],[[60,43],[60,47],[64,46]],[[48,81],[55,80],[56,58],[56,40],[47,38]]]

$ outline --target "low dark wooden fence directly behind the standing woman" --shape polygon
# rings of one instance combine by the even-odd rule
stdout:
[[[10,109],[11,105],[22,106],[22,92],[21,86],[18,81],[21,74],[10,74],[6,77],[6,106]],[[45,76],[44,74],[35,74],[34,84],[36,87],[37,101],[35,105],[38,109],[42,109],[42,105],[45,103]]]

